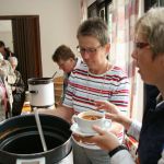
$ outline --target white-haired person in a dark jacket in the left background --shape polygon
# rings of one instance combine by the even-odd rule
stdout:
[[[12,116],[21,115],[24,98],[25,98],[25,85],[22,79],[21,73],[16,70],[17,67],[17,58],[9,57],[9,62],[11,63],[14,73],[16,75],[15,82],[11,85],[12,95],[13,95],[13,104],[12,104]]]

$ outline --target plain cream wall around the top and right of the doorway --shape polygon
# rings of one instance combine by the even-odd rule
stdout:
[[[80,0],[1,0],[0,15],[39,15],[44,77],[52,75],[57,66],[51,55],[60,44],[74,52],[80,24]]]

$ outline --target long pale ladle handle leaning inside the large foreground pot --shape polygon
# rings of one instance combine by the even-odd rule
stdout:
[[[40,125],[39,115],[38,115],[38,112],[37,112],[36,107],[34,107],[33,109],[34,109],[35,120],[36,120],[39,138],[40,138],[40,141],[42,141],[42,144],[43,144],[43,149],[46,152],[47,151],[47,145],[46,145],[46,142],[45,142],[45,137],[44,137],[43,128],[42,128],[42,125]]]

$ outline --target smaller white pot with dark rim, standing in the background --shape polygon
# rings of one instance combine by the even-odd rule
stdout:
[[[55,104],[52,78],[28,79],[30,104],[34,107],[50,107]]]

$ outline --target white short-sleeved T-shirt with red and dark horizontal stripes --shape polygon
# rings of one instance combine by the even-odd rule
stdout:
[[[94,99],[109,101],[127,113],[129,81],[126,73],[114,66],[104,74],[93,74],[82,63],[70,75],[63,105],[81,113],[94,108]]]

